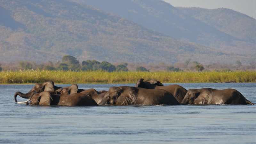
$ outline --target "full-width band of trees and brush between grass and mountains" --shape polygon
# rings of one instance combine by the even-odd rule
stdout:
[[[2,65],[1,65],[2,64]],[[165,63],[114,63],[107,61],[99,62],[97,60],[84,60],[79,62],[74,56],[66,55],[62,57],[61,61],[53,63],[48,61],[46,63],[35,63],[30,61],[19,61],[10,63],[0,63],[0,71],[19,71],[19,70],[61,70],[61,71],[96,71],[103,70],[107,72],[113,71],[255,71],[256,62],[251,62],[250,65],[242,65],[240,60],[235,64],[213,63],[202,65],[197,61],[191,59],[185,62],[177,62],[175,64]]]

